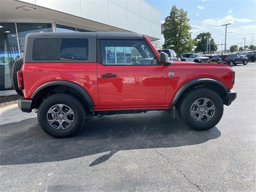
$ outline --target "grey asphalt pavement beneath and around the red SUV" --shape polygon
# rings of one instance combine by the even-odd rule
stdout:
[[[57,139],[34,112],[3,112],[0,191],[256,191],[256,62],[233,69],[237,98],[208,131],[151,111],[88,118]]]

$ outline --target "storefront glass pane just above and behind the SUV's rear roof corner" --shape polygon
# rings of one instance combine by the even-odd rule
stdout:
[[[18,37],[20,43],[20,54],[23,57],[25,36],[28,33],[52,32],[51,23],[17,23]]]

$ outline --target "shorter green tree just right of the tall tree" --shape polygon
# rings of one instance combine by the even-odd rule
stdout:
[[[212,34],[210,32],[206,32],[206,33],[200,33],[196,36],[195,52],[206,52],[207,36],[208,36],[208,41],[210,43],[210,51],[212,52],[218,49],[217,44],[214,42],[214,39],[212,38]],[[208,44],[208,50],[209,50],[209,44]]]

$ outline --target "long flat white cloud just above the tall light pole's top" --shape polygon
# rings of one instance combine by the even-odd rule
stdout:
[[[234,18],[234,16],[229,15],[223,18],[216,18],[216,19],[205,19],[203,20],[201,23],[204,25],[217,25],[217,26],[221,26],[223,24],[226,23],[236,23],[236,22],[240,22],[240,23],[249,23],[249,22],[253,22],[253,20],[251,19],[243,19],[243,18]]]

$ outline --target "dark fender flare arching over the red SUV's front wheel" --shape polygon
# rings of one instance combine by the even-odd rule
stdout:
[[[222,82],[212,79],[212,78],[196,78],[193,80],[190,80],[188,82],[186,82],[185,84],[183,84],[179,90],[176,92],[176,94],[174,95],[174,98],[172,99],[172,105],[175,106],[175,104],[177,103],[177,101],[179,100],[180,96],[182,95],[182,93],[191,85],[196,84],[196,83],[200,83],[200,82],[211,82],[211,83],[215,83],[218,84],[219,86],[221,86],[226,92],[228,92],[228,89],[224,86],[224,84],[222,84]]]

